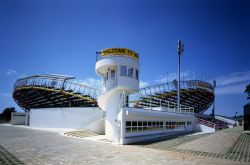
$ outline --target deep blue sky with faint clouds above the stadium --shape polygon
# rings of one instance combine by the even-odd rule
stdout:
[[[0,112],[18,108],[11,94],[23,76],[74,75],[96,86],[95,52],[108,47],[140,53],[142,86],[171,80],[182,39],[182,77],[216,79],[216,113],[242,114],[249,7],[242,0],[0,0]]]

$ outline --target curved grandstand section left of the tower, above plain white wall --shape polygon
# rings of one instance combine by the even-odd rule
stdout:
[[[97,107],[98,89],[74,82],[72,76],[42,74],[18,79],[13,98],[28,111],[32,108]]]

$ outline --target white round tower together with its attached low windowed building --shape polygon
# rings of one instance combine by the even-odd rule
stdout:
[[[125,48],[98,52],[96,73],[102,77],[99,107],[106,111],[105,135],[108,140],[128,144],[170,134],[195,131],[193,109],[181,106],[129,107],[128,96],[139,91],[139,55]]]

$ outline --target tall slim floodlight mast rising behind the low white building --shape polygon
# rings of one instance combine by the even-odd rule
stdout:
[[[181,42],[181,40],[178,40],[178,87],[177,87],[177,109],[179,113],[181,112],[180,109],[180,79],[181,79],[181,55],[184,51],[184,44]]]

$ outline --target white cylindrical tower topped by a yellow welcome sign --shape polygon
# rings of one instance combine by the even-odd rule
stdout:
[[[105,135],[119,142],[118,113],[121,98],[139,90],[139,56],[125,48],[108,48],[97,53],[96,73],[102,77],[102,95],[99,107],[106,111]]]

